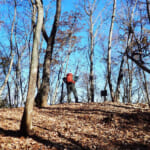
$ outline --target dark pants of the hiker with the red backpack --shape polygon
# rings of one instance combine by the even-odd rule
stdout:
[[[71,102],[71,92],[73,92],[73,94],[74,94],[75,102],[78,103],[78,95],[77,95],[77,91],[75,88],[75,84],[74,83],[67,83],[68,103]]]

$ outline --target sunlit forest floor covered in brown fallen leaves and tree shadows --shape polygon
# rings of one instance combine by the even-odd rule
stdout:
[[[19,135],[23,108],[0,109],[0,150],[150,150],[144,104],[71,103],[34,108],[33,134]]]

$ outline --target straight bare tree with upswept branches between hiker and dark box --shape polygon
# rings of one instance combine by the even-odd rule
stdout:
[[[98,30],[100,29],[101,24],[99,23],[97,29],[94,31],[94,26],[97,24],[97,20],[99,19],[101,12],[94,20],[94,12],[97,9],[97,4],[99,1],[93,0],[93,1],[85,1],[84,0],[84,11],[86,15],[88,16],[88,24],[89,24],[89,31],[88,31],[88,38],[89,38],[89,60],[90,60],[90,73],[89,73],[89,101],[94,102],[94,47],[95,47],[95,38],[97,36]],[[88,91],[87,91],[88,92]]]

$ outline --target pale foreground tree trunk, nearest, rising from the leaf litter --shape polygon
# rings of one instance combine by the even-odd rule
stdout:
[[[30,135],[30,132],[32,131],[32,111],[36,89],[37,69],[38,69],[38,47],[40,43],[40,34],[43,24],[43,4],[41,3],[41,0],[35,0],[35,3],[33,3],[32,1],[32,5],[33,7],[36,7],[38,13],[37,13],[37,25],[35,27],[35,32],[33,34],[33,47],[30,64],[28,93],[20,126],[20,132],[24,136]],[[36,15],[36,12],[33,12],[32,15],[34,17],[34,15]]]

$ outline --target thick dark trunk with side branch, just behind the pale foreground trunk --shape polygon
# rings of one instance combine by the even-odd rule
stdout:
[[[50,86],[49,86],[50,64],[52,61],[53,47],[55,43],[55,36],[56,36],[57,28],[59,25],[60,13],[61,13],[61,0],[57,0],[55,20],[53,23],[51,35],[48,39],[47,39],[46,32],[43,31],[43,36],[45,40],[47,41],[47,49],[46,49],[46,55],[45,55],[44,65],[43,65],[42,84],[36,96],[36,102],[38,103],[40,107],[47,106],[48,93],[50,89]]]

